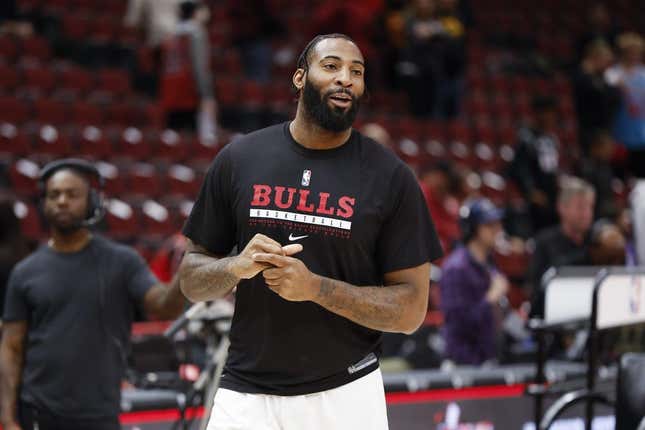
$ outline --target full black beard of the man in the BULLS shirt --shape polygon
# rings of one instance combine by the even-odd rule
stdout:
[[[337,93],[344,93],[352,97],[352,104],[347,109],[330,106],[329,97]],[[343,89],[331,90],[322,94],[320,88],[307,79],[302,101],[305,111],[313,122],[325,130],[338,133],[347,130],[354,123],[361,98],[354,96],[349,90]]]

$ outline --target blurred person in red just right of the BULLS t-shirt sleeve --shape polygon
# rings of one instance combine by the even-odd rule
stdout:
[[[444,250],[450,250],[459,240],[459,191],[461,178],[448,161],[423,165],[419,184],[435,222],[435,228]]]

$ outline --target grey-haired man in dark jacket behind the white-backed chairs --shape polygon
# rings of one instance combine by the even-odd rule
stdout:
[[[596,193],[588,182],[567,177],[558,195],[560,224],[546,228],[535,238],[529,266],[532,287],[531,314],[542,316],[542,275],[551,267],[589,264],[589,230],[593,222]]]

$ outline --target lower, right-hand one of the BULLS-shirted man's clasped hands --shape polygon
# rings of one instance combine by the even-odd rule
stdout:
[[[317,296],[320,277],[311,273],[301,260],[277,254],[257,253],[257,263],[269,263],[272,268],[262,272],[267,286],[280,297],[293,302],[312,300]]]

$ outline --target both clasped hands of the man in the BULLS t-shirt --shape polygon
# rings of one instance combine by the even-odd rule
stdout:
[[[231,271],[240,279],[250,279],[262,272],[266,285],[290,301],[314,300],[320,289],[320,277],[293,255],[302,245],[280,243],[256,234],[233,261]]]

